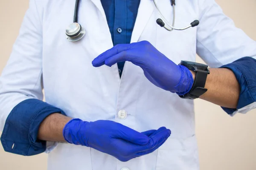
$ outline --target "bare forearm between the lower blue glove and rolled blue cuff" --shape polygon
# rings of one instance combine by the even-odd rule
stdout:
[[[44,141],[65,142],[62,134],[64,126],[72,118],[60,113],[52,113],[41,123],[38,130],[38,139]]]

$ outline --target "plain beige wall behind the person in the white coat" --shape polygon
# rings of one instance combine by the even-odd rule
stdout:
[[[0,71],[9,58],[29,0],[0,0]],[[256,0],[217,0],[236,26],[256,40]],[[203,62],[200,58],[198,62]],[[234,117],[220,107],[195,101],[201,170],[256,170],[256,110]],[[46,170],[47,154],[18,156],[0,145],[0,170]]]

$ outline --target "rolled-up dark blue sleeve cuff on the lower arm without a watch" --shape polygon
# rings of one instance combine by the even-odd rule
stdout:
[[[20,102],[6,119],[1,142],[6,152],[32,156],[46,150],[46,141],[38,140],[38,129],[43,120],[52,113],[64,111],[38,99]]]

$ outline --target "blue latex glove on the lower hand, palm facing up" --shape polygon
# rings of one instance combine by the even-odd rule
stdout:
[[[67,142],[92,147],[120,161],[153,152],[166,141],[171,131],[161,127],[159,130],[144,133],[109,120],[84,122],[81,119],[72,119],[63,129]]]

